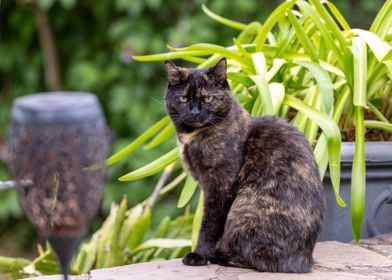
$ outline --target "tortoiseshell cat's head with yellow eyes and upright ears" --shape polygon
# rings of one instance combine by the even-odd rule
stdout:
[[[226,79],[226,59],[205,69],[188,69],[165,62],[167,112],[182,132],[217,125],[229,113],[233,98]]]

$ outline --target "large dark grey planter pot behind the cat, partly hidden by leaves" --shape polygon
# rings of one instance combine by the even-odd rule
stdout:
[[[320,241],[353,239],[350,218],[353,142],[344,142],[341,153],[340,194],[347,207],[336,204],[329,174],[324,179],[327,211]],[[366,208],[361,238],[392,232],[392,142],[366,142]]]

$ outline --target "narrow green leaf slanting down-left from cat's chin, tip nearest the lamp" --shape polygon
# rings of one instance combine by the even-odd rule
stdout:
[[[141,134],[138,138],[136,138],[131,144],[126,146],[125,148],[121,149],[119,152],[112,155],[110,158],[106,160],[106,164],[112,165],[119,160],[123,159],[124,157],[131,154],[137,148],[139,148],[144,142],[154,136],[159,130],[165,127],[170,122],[169,116],[162,118],[160,121],[155,123],[149,129],[147,129],[143,134]]]

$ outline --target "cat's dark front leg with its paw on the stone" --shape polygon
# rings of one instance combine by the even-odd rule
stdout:
[[[223,234],[227,214],[232,204],[232,195],[204,195],[204,212],[199,231],[199,238],[194,252],[183,259],[185,265],[201,266],[215,256],[215,246]]]

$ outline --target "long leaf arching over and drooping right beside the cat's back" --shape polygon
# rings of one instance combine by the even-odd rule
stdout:
[[[293,96],[286,95],[283,103],[307,115],[310,119],[316,122],[323,130],[327,140],[329,172],[331,174],[332,187],[335,192],[337,203],[340,206],[344,207],[346,204],[339,195],[340,148],[341,148],[341,136],[340,136],[339,127],[330,117],[328,117],[328,115],[316,111],[312,107],[306,105],[301,100]]]

